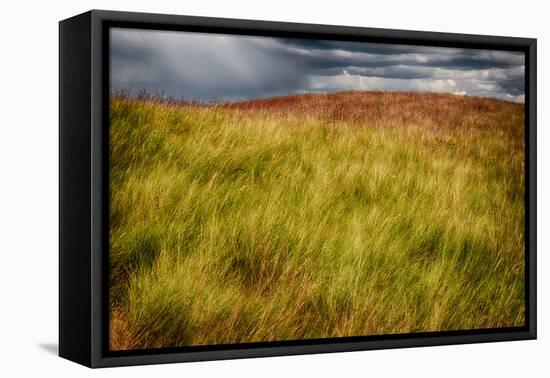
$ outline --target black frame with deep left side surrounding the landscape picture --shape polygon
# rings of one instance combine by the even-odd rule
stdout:
[[[108,348],[108,98],[113,26],[522,51],[526,325],[171,349]],[[59,355],[88,367],[536,338],[536,39],[92,10],[59,24]]]

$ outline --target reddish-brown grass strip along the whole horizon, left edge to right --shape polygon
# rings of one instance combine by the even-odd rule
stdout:
[[[161,94],[117,92],[115,98],[147,102],[154,106],[216,107],[238,110],[241,116],[276,113],[287,118],[315,118],[323,122],[346,122],[356,126],[414,126],[443,130],[502,130],[510,132],[524,104],[487,97],[444,93],[351,91],[297,94],[226,103],[205,103]]]

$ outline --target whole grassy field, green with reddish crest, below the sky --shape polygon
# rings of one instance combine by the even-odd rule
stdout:
[[[523,105],[113,97],[113,350],[524,324]]]

